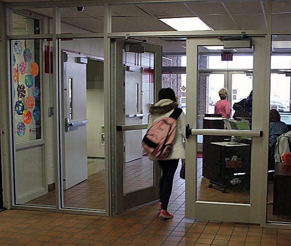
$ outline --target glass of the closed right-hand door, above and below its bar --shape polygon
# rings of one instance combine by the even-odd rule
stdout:
[[[246,74],[234,73],[231,75],[234,71],[217,70],[222,61],[217,60],[218,67],[215,66],[215,59],[210,64],[210,59],[217,56],[213,56],[211,52],[205,52],[205,48],[199,47],[201,52],[198,57],[200,68],[198,76],[198,128],[250,129],[251,118],[247,118],[246,115],[245,119],[243,118],[242,120],[233,120],[231,118],[224,120],[221,117],[214,117],[215,115],[205,115],[205,113],[215,113],[215,105],[221,107],[220,111],[228,103],[228,107],[231,107],[232,104],[227,101],[227,94],[225,98],[219,96],[220,88],[226,86],[229,91],[230,88],[233,88],[232,92],[244,96],[245,94],[249,95],[253,87],[253,80],[249,79],[249,87],[242,88],[242,84],[246,84]],[[238,49],[237,52],[239,53],[240,51],[242,50]],[[250,60],[245,59],[245,57],[237,55],[237,63],[241,63],[240,68],[246,68],[250,65]],[[250,57],[253,56],[250,55]],[[211,68],[216,70],[212,71],[209,67],[210,65],[212,66]],[[227,82],[225,81],[225,76],[228,78]],[[246,93],[244,92],[245,90],[247,91]],[[231,97],[229,101],[232,101],[232,98],[236,98],[232,93],[229,93],[229,95]],[[223,104],[223,106],[219,103]],[[250,106],[252,108],[252,100]],[[243,107],[246,109],[246,105]],[[248,117],[251,117],[251,114]],[[197,199],[200,201],[250,203],[252,138],[203,135],[198,136],[197,141]]]

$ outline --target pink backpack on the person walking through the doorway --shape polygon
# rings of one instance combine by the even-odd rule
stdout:
[[[176,119],[182,113],[182,109],[176,107],[168,116],[154,122],[142,139],[141,146],[154,157],[167,158],[173,147],[176,136]]]

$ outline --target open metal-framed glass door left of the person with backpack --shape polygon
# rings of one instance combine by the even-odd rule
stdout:
[[[141,141],[146,133],[149,106],[161,88],[161,46],[131,39],[112,42],[115,71],[116,118],[112,134],[116,142],[112,153],[115,189],[113,212],[120,212],[159,198],[161,170],[148,158]],[[116,136],[115,136],[116,134]]]

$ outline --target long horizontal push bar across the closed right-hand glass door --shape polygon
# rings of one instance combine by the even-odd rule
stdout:
[[[190,135],[262,136],[262,130],[192,129],[186,124],[186,138]]]

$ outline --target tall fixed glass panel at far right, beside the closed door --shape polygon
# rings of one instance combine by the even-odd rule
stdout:
[[[286,1],[276,1],[288,8]],[[273,4],[274,5],[274,4]],[[273,14],[274,15],[274,14]],[[273,23],[274,24],[274,23]],[[291,152],[289,140],[284,145],[281,134],[291,130],[291,77],[290,77],[290,35],[272,36],[271,66],[273,70],[270,84],[270,134],[268,149],[268,196],[267,220],[291,222],[290,183],[291,166],[284,165],[282,156]],[[288,133],[286,133],[288,134]],[[278,150],[276,150],[276,145]],[[285,146],[285,147],[284,147]],[[275,154],[277,153],[278,154]]]

